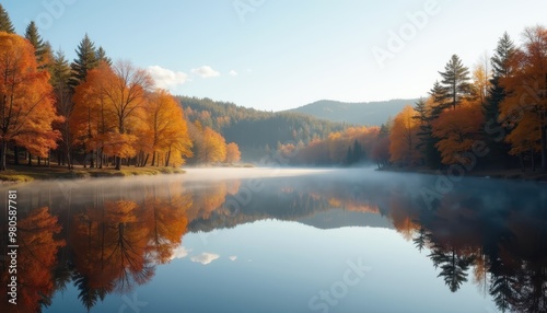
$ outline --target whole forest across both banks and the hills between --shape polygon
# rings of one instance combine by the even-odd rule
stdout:
[[[547,30],[505,33],[472,69],[453,55],[427,97],[380,126],[173,96],[89,38],[69,62],[0,8],[0,170],[7,160],[72,169],[247,162],[386,169],[547,171]]]

